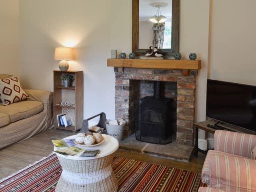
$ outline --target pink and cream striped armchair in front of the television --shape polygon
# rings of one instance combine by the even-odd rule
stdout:
[[[214,150],[209,150],[202,182],[226,192],[256,192],[256,160],[250,158],[256,135],[216,130]],[[199,191],[212,191],[201,188]]]

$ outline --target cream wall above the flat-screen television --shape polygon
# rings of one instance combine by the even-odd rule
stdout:
[[[255,0],[213,0],[209,77],[256,85]]]

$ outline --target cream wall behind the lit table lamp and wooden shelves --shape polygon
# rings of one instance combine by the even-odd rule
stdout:
[[[84,117],[104,111],[113,118],[114,71],[106,66],[110,0],[20,1],[20,68],[25,88],[53,90],[57,46],[76,48],[77,60],[70,62],[70,70],[84,71]]]

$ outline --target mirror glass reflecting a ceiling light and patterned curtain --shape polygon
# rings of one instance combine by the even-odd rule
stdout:
[[[171,49],[172,0],[139,0],[139,49]]]

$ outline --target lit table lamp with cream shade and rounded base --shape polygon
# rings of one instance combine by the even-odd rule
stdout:
[[[71,47],[56,47],[54,60],[60,60],[59,68],[61,71],[67,71],[69,64],[67,60],[74,60],[74,50]]]

